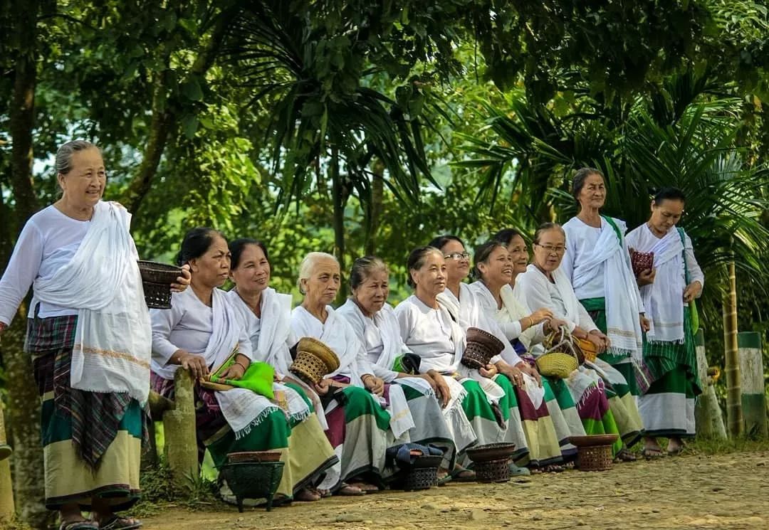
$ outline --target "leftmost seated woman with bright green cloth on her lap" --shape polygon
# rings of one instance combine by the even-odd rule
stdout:
[[[227,240],[216,230],[195,228],[185,235],[177,260],[189,265],[191,288],[172,296],[171,309],[151,312],[152,385],[172,398],[176,370],[189,370],[197,382],[198,444],[215,465],[224,464],[230,452],[279,451],[286,468],[278,501],[318,500],[305,486],[334,464],[333,451],[301,397],[292,399],[293,391],[285,388],[278,391],[287,399],[275,395],[273,369],[256,362],[241,312],[219,289],[230,273]],[[211,374],[235,388],[206,389]],[[245,382],[248,388],[239,387]],[[301,426],[301,436],[290,436],[292,426]]]

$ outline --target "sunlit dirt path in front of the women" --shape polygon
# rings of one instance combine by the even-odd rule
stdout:
[[[454,530],[459,528],[769,528],[769,452],[684,456],[530,482],[449,484],[285,508],[161,508],[148,530]]]

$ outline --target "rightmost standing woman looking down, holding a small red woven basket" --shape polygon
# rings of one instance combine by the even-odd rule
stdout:
[[[652,270],[641,271],[638,285],[651,329],[644,337],[644,366],[651,386],[638,398],[644,419],[644,454],[661,455],[656,436],[668,438],[667,452],[677,455],[683,438],[694,436],[694,398],[701,393],[691,323],[691,304],[701,295],[705,277],[694,258],[691,239],[676,224],[686,197],[664,188],[651,201],[647,223],[628,234],[628,246],[653,252]]]

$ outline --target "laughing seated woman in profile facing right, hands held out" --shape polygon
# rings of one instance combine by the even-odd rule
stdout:
[[[520,237],[519,235],[518,238]],[[532,312],[525,304],[516,300],[510,287],[514,274],[517,274],[515,273],[516,267],[520,267],[520,263],[514,263],[513,257],[508,251],[508,245],[499,240],[490,240],[475,250],[474,277],[477,277],[478,280],[471,283],[470,289],[478,297],[478,302],[486,311],[487,316],[499,323],[504,331],[505,339],[514,345],[521,356],[524,356],[544,340],[545,333],[558,329],[564,325],[564,322],[554,318],[552,311],[546,307]],[[525,267],[524,261],[524,270]],[[543,416],[538,422],[553,423],[558,445],[560,445],[559,454],[562,455],[564,461],[574,460],[577,457],[577,448],[569,442],[569,437],[584,435],[584,428],[577,409],[574,407],[571,394],[561,379],[551,381],[542,378],[534,366],[533,356],[528,355],[524,363],[527,363],[527,368],[531,373],[534,373],[534,380],[538,381],[542,387],[544,404],[549,412],[549,417]],[[560,400],[554,394],[554,386],[558,388],[561,394]],[[560,402],[564,402],[563,410]],[[544,442],[549,441],[542,439],[543,437],[539,435],[541,429],[531,429],[533,426],[530,426],[528,422],[533,420],[524,419],[524,430],[531,448],[534,448],[538,443],[544,444]],[[530,432],[531,430],[534,432]],[[558,450],[558,446],[543,446],[536,449],[541,454],[547,454],[548,451],[555,454],[556,450]],[[531,451],[534,452],[535,449],[531,449]],[[532,459],[534,458],[532,457]],[[559,467],[558,465],[545,464],[544,470],[558,471]]]

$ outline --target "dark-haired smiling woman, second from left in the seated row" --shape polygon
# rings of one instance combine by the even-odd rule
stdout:
[[[296,343],[291,333],[291,295],[269,287],[271,267],[264,243],[244,238],[232,241],[229,248],[230,278],[235,287],[227,293],[228,299],[245,325],[254,359],[275,369],[272,389],[275,396],[285,396],[287,403],[291,459],[284,473],[291,472],[295,500],[318,501],[321,492],[313,486],[321,473],[338,464],[338,458],[323,432],[325,416],[315,413],[320,409],[317,394],[288,377],[289,347]]]

